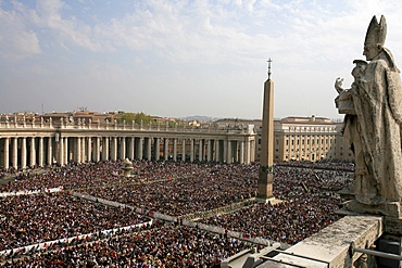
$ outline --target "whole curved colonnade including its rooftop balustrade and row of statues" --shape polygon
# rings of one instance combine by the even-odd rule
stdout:
[[[98,120],[0,119],[0,167],[116,159],[206,161],[250,164],[254,129],[110,124]]]

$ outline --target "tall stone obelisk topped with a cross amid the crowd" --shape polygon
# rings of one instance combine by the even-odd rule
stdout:
[[[268,79],[264,84],[263,119],[261,135],[261,158],[259,176],[259,199],[273,199],[274,182],[274,82],[271,80],[271,63],[268,59]]]

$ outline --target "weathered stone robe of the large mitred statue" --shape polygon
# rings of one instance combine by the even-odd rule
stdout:
[[[390,52],[373,59],[353,91],[361,151],[355,152],[355,193],[363,204],[401,201],[402,86]]]

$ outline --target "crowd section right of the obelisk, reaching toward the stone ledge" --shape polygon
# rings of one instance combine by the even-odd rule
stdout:
[[[296,244],[339,219],[341,200],[335,191],[350,183],[344,171],[275,168],[275,204],[255,204],[201,222],[252,237]]]

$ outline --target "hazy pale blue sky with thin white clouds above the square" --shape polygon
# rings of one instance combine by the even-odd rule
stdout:
[[[342,118],[335,79],[382,14],[402,64],[399,0],[0,0],[0,113],[257,119],[271,58],[275,118]]]

